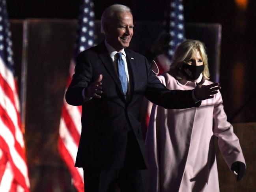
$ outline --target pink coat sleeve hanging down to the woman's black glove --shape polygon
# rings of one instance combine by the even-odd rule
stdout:
[[[233,126],[227,121],[224,112],[222,97],[220,92],[215,96],[216,101],[213,109],[214,135],[218,138],[218,145],[222,157],[231,168],[232,163],[241,161],[245,164],[245,158],[239,144],[239,139],[233,131]]]

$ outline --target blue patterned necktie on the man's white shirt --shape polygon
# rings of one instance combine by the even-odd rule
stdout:
[[[127,92],[127,76],[125,73],[125,65],[124,65],[124,61],[122,59],[122,53],[118,52],[117,54],[118,57],[118,74],[119,74],[119,79],[121,81],[121,85],[123,88],[123,94],[126,95]]]

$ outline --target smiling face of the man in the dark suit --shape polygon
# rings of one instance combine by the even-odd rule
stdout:
[[[105,26],[107,43],[116,51],[129,47],[133,37],[133,15],[130,12],[116,13],[109,23]]]

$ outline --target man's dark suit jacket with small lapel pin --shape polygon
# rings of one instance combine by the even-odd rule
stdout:
[[[192,91],[168,90],[151,70],[147,59],[125,48],[130,91],[125,98],[118,74],[104,42],[78,54],[71,84],[65,98],[68,104],[82,105],[82,132],[75,166],[88,169],[120,169],[125,159],[127,132],[133,130],[144,169],[144,139],[140,126],[140,107],[145,96],[164,108],[199,106]],[[82,90],[103,75],[100,99],[84,102]],[[136,149],[135,149],[136,151]]]

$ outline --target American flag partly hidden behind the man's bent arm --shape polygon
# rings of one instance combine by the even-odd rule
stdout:
[[[69,86],[72,75],[74,74],[75,57],[78,53],[92,47],[94,44],[95,35],[93,29],[93,2],[92,0],[82,0],[80,5],[80,15],[78,19],[77,43],[75,45],[74,57],[71,59],[69,67],[67,87]],[[67,104],[64,98],[62,117],[60,119],[60,136],[58,140],[58,149],[61,157],[63,158],[71,173],[73,185],[77,188],[78,192],[84,191],[83,170],[82,168],[75,167],[75,159],[81,133],[81,114],[81,106],[71,106]]]

